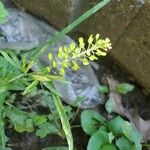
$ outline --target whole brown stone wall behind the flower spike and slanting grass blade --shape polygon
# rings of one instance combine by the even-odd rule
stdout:
[[[94,6],[99,0],[14,0],[19,7],[43,17],[58,29]],[[150,3],[140,0],[112,0],[76,31],[100,33],[113,43],[115,57],[150,93]]]

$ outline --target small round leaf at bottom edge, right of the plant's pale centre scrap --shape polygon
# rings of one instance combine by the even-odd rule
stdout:
[[[116,146],[120,150],[132,150],[132,143],[125,137],[116,140]]]

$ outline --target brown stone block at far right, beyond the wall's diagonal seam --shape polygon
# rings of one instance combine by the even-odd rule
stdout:
[[[150,4],[142,6],[112,55],[150,93]]]

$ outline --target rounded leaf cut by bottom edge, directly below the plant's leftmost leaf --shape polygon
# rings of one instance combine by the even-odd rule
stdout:
[[[101,130],[101,128],[95,132],[89,139],[87,150],[100,150],[102,145],[109,142],[107,132]]]

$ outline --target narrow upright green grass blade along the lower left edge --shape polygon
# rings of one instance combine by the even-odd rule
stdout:
[[[5,101],[5,93],[0,93],[0,146],[4,150],[6,145],[5,129],[3,122],[3,104]]]

